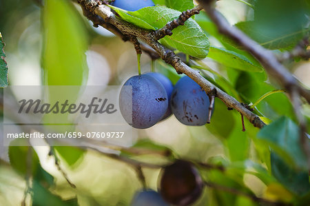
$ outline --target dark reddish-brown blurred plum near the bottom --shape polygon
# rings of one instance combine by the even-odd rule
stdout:
[[[165,167],[161,177],[161,196],[172,205],[190,205],[203,192],[198,170],[187,161],[176,161]]]

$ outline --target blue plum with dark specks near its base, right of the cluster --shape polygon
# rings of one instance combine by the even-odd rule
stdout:
[[[188,76],[183,76],[174,85],[170,101],[176,119],[185,125],[205,125],[209,113],[209,97]]]

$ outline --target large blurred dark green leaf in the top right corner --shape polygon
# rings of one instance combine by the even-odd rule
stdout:
[[[309,32],[309,11],[304,0],[260,0],[255,3],[254,21],[237,27],[265,48],[291,48]]]

